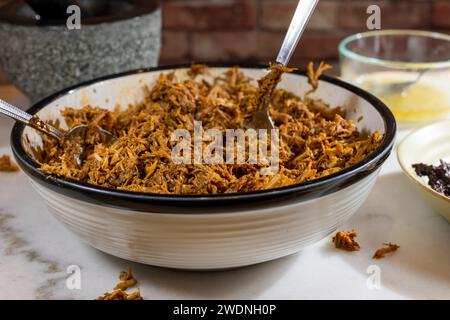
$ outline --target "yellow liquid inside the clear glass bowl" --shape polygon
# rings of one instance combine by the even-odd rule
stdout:
[[[403,92],[392,85],[417,79],[407,72],[380,72],[360,76],[356,84],[382,100],[402,123],[421,123],[450,116],[450,79],[423,77]]]

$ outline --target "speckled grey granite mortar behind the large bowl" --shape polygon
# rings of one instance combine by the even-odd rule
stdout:
[[[25,1],[0,7],[0,65],[9,80],[36,102],[82,81],[157,66],[161,10],[156,0],[108,1],[104,13],[66,20],[34,18]]]

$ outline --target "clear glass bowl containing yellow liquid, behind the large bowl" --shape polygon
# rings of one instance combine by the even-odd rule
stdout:
[[[339,45],[341,76],[383,100],[403,126],[450,118],[450,36],[359,33]]]

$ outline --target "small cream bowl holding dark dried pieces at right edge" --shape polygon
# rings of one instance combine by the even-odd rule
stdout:
[[[412,167],[416,163],[439,164],[450,161],[450,121],[437,122],[411,132],[397,148],[397,158],[415,189],[450,222],[450,198],[433,190],[427,178],[419,177]]]

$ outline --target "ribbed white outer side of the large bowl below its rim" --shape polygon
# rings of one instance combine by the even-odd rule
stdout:
[[[308,201],[198,214],[111,208],[32,185],[57,219],[101,251],[154,266],[212,270],[277,259],[327,237],[362,205],[378,171]]]

